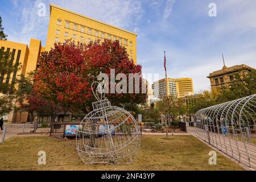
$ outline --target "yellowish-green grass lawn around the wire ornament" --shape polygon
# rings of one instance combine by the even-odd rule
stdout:
[[[212,148],[189,135],[143,136],[133,164],[83,164],[76,141],[51,137],[15,137],[0,144],[0,170],[243,170],[217,153],[209,165]],[[46,165],[38,164],[38,152],[46,152]]]

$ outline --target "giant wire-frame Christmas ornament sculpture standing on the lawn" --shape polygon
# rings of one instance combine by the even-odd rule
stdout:
[[[94,84],[98,84],[96,93]],[[80,158],[86,164],[132,163],[141,143],[137,121],[126,110],[110,104],[99,82],[93,82],[92,91],[97,102],[82,119],[76,135]]]

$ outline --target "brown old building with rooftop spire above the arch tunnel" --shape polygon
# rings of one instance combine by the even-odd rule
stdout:
[[[245,64],[234,65],[233,67],[224,67],[218,71],[214,71],[209,74],[208,78],[210,79],[210,86],[212,92],[217,94],[220,91],[220,88],[229,86],[230,82],[234,81],[234,76],[237,74],[242,74],[255,70],[252,67],[249,67]]]

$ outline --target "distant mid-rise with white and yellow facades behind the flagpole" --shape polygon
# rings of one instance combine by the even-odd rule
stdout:
[[[167,82],[167,86],[166,86]],[[193,94],[192,78],[167,78],[155,81],[152,84],[154,90],[154,98],[161,98],[162,96],[170,96],[171,94],[177,98],[185,97],[187,94]]]

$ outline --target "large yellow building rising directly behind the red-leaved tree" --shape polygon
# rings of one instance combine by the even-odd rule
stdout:
[[[46,51],[55,43],[67,39],[89,43],[96,40],[119,40],[125,46],[130,58],[137,63],[137,34],[100,22],[96,19],[50,5],[50,20],[46,42]]]

